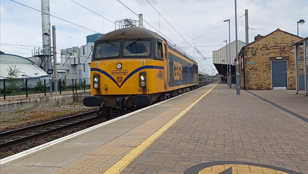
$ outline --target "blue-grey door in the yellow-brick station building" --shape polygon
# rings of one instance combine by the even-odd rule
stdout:
[[[287,61],[272,61],[272,89],[288,89]]]

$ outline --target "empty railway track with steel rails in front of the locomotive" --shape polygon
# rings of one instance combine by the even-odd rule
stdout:
[[[61,119],[39,123],[19,129],[0,133],[0,147],[6,148],[19,143],[33,140],[34,138],[46,136],[48,134],[59,132],[63,129],[76,126],[97,119],[96,111],[85,112]]]

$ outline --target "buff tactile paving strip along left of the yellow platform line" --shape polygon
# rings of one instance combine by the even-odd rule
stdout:
[[[77,160],[67,164],[63,168],[58,169],[54,173],[103,173],[123,156],[128,154],[132,149],[136,148],[140,143],[151,136],[154,132],[168,123],[169,120],[178,115],[186,107],[205,94],[211,86],[212,85],[209,85],[203,90],[190,93],[189,95],[191,96],[188,97],[188,99],[180,100],[180,97],[176,98],[180,102],[167,111],[160,113],[125,134],[107,142],[99,148],[94,149],[93,151],[87,153],[87,155],[79,157]],[[152,110],[153,113],[155,113],[155,107],[152,107],[149,110]],[[139,114],[142,114],[142,112]]]

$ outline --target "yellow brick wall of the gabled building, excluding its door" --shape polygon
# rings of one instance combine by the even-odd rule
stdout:
[[[245,66],[245,86],[247,90],[271,90],[271,61],[276,57],[279,60],[287,60],[288,68],[288,89],[295,89],[295,49],[293,43],[301,40],[292,34],[281,30],[257,40],[245,47],[244,66]],[[300,50],[303,54],[303,48]],[[244,69],[242,69],[242,56],[239,56],[241,69],[241,87],[244,88]],[[255,64],[248,64],[255,62]]]

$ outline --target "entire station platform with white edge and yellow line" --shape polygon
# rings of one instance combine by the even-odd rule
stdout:
[[[0,172],[308,174],[307,108],[292,91],[219,81],[1,159]]]

